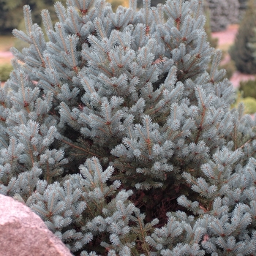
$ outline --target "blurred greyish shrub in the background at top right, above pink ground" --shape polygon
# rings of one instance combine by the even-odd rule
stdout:
[[[238,22],[238,0],[206,0],[211,11],[211,30],[222,31],[227,26]]]

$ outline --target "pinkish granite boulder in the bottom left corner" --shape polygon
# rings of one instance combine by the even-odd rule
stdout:
[[[72,256],[27,206],[0,195],[0,256]]]

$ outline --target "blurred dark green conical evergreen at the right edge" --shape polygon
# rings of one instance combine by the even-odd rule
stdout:
[[[256,1],[249,0],[248,8],[241,20],[235,43],[230,49],[230,56],[235,61],[236,68],[247,74],[256,74],[256,62],[250,43],[254,42],[256,27]]]

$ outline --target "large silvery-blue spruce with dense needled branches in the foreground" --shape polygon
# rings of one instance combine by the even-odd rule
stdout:
[[[56,2],[47,41],[23,8],[13,34],[29,48],[12,48],[0,89],[0,192],[74,255],[256,255],[256,121],[230,110],[200,4]]]

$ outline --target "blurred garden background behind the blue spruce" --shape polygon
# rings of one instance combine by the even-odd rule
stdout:
[[[25,30],[23,5],[29,4],[33,22],[41,24],[40,12],[48,9],[56,21],[53,4],[56,0],[0,0],[0,79],[1,86],[12,71],[11,47],[26,47],[12,36],[12,29]],[[64,6],[66,0],[59,0]],[[113,11],[119,5],[129,7],[129,0],[108,0]],[[172,1],[172,0],[170,0]],[[211,47],[222,50],[220,68],[227,70],[237,91],[238,102],[244,102],[246,113],[256,112],[256,0],[201,0],[206,16],[206,33]],[[151,6],[165,4],[165,0],[151,0]],[[143,0],[138,0],[138,7]],[[211,67],[209,67],[210,69]]]

